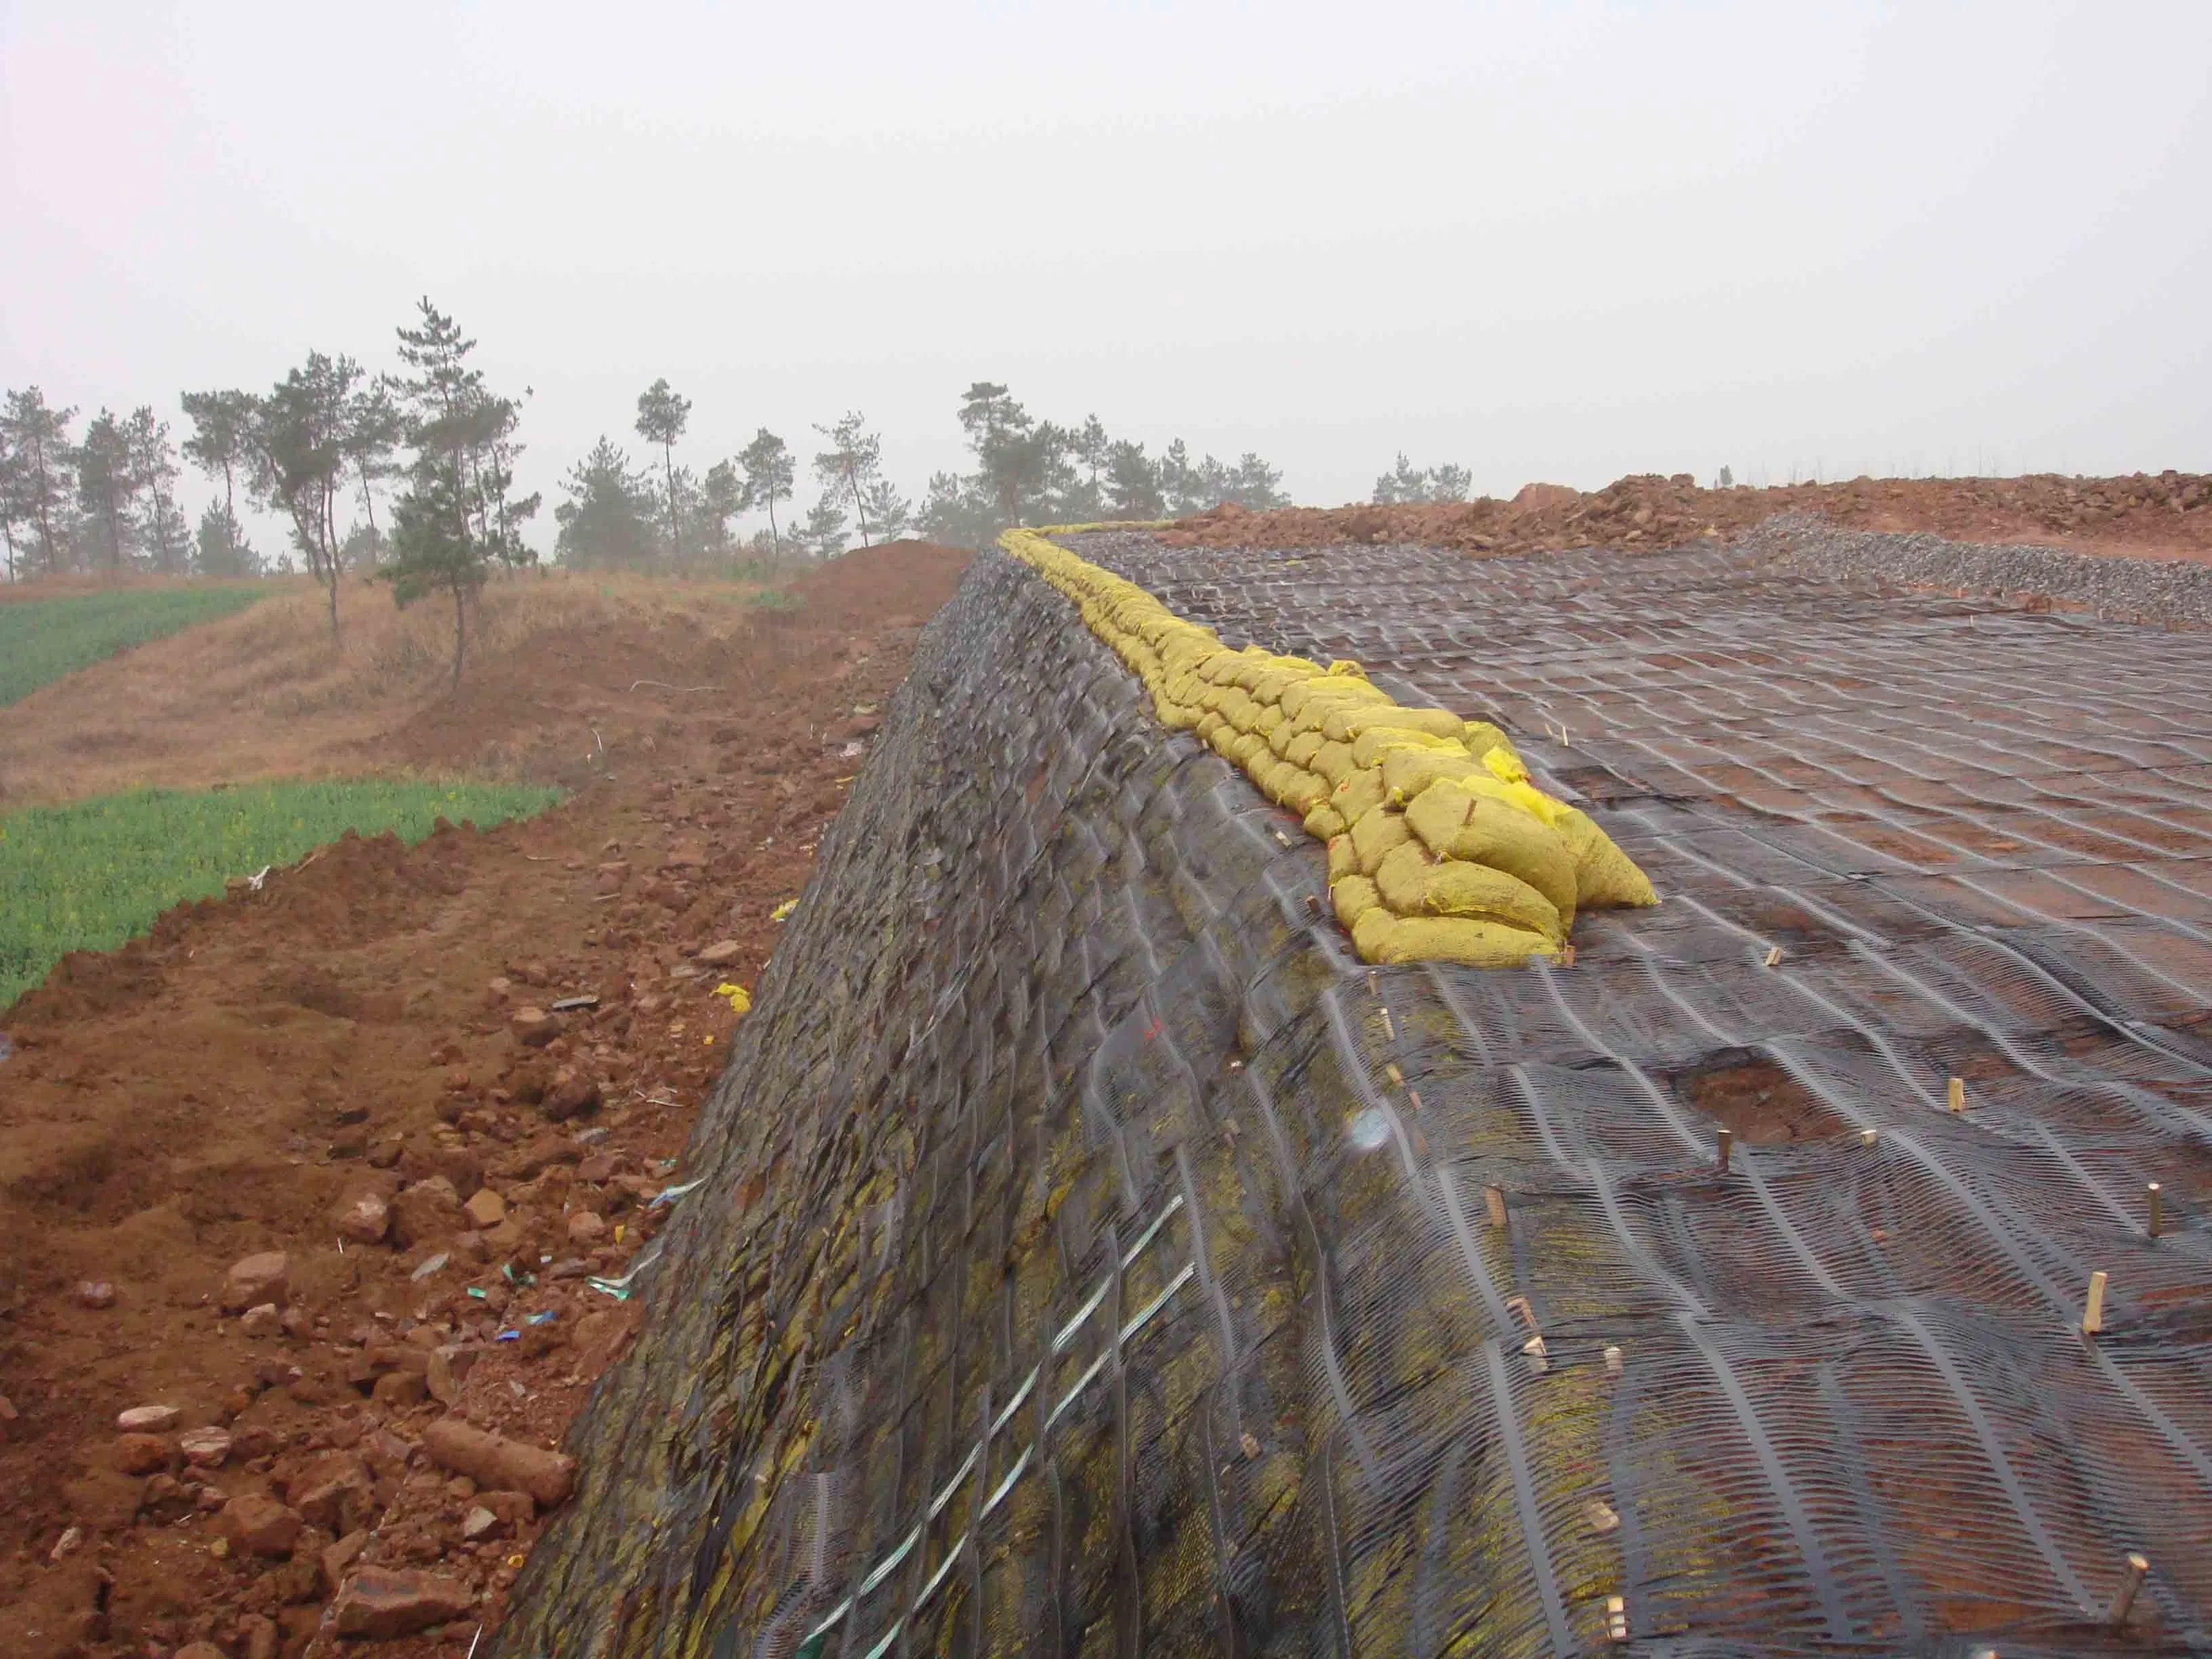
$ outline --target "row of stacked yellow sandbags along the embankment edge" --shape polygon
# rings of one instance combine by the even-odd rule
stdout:
[[[1577,909],[1657,902],[1604,830],[1528,783],[1495,726],[1400,708],[1354,661],[1232,650],[1037,531],[1000,546],[1077,604],[1164,726],[1329,845],[1329,896],[1365,960],[1517,967],[1559,956]]]

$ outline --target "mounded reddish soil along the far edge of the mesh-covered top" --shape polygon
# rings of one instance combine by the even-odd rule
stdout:
[[[1568,546],[1661,549],[1747,531],[1772,513],[1823,513],[1865,531],[1936,531],[1960,542],[2035,542],[2079,553],[2212,560],[2212,478],[1856,478],[1847,484],[1699,489],[1639,473],[1599,491],[1528,484],[1511,502],[1433,507],[1217,507],[1168,531],[1179,546],[1427,542],[1469,553]]]

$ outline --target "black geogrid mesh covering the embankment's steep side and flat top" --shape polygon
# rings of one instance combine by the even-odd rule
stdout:
[[[1730,555],[1075,546],[1500,717],[1663,905],[1358,964],[1321,849],[984,555],[500,1652],[2205,1641],[2212,639]]]

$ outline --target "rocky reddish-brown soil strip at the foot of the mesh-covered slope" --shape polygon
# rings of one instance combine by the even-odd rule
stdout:
[[[515,1489],[560,1469],[471,1478],[431,1429],[557,1447],[622,1354],[635,1303],[584,1276],[670,1214],[714,989],[757,982],[964,562],[845,555],[726,628],[538,628],[380,754],[504,752],[566,805],[325,847],[0,1018],[0,1652],[336,1652],[392,1571],[427,1577],[383,1610],[442,1621],[345,1652],[458,1659],[498,1619],[544,1515]],[[226,1296],[259,1252],[283,1281]],[[175,1420],[124,1433],[148,1405]]]

